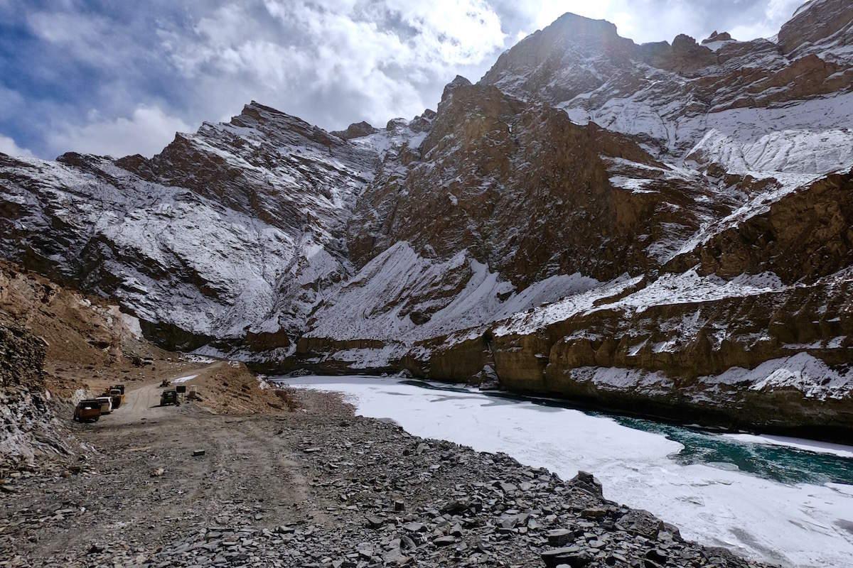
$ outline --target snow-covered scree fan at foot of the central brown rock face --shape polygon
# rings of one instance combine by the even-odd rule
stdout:
[[[545,278],[517,292],[467,250],[436,261],[399,242],[330,293],[308,335],[410,344],[507,318],[598,284],[576,273]],[[416,324],[413,314],[427,314],[429,319]]]

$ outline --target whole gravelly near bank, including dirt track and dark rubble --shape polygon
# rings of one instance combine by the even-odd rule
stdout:
[[[591,478],[419,439],[335,394],[240,416],[159,396],[136,387],[75,425],[84,461],[5,487],[0,566],[758,565],[605,501]]]

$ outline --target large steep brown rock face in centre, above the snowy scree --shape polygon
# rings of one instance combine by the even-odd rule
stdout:
[[[439,257],[467,249],[522,287],[560,273],[615,278],[655,266],[655,240],[698,228],[710,191],[664,179],[663,164],[627,137],[464,83],[445,89],[417,154],[357,205],[357,265],[407,241]],[[636,164],[622,173],[647,190],[614,187],[614,161]]]

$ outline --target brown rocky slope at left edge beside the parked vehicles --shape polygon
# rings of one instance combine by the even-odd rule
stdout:
[[[61,470],[90,450],[69,428],[73,404],[131,387],[159,351],[119,307],[0,262],[0,479]]]

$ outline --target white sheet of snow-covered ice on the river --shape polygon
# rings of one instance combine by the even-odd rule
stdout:
[[[415,436],[502,451],[563,479],[578,469],[593,472],[608,499],[647,509],[697,542],[784,566],[853,565],[853,485],[785,485],[740,471],[682,465],[670,456],[683,446],[658,433],[474,390],[431,390],[367,376],[284,382],[343,393],[357,414],[392,419]]]

